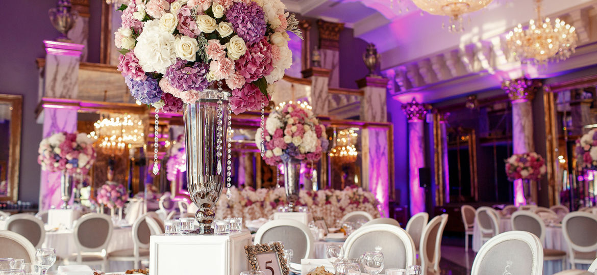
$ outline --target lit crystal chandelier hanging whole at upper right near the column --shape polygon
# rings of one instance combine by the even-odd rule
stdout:
[[[533,60],[538,64],[546,64],[553,60],[565,60],[574,53],[578,36],[574,27],[556,18],[555,24],[549,18],[541,17],[541,0],[536,0],[537,21],[529,21],[529,27],[524,30],[518,24],[507,35],[507,45],[510,51],[520,60]]]

